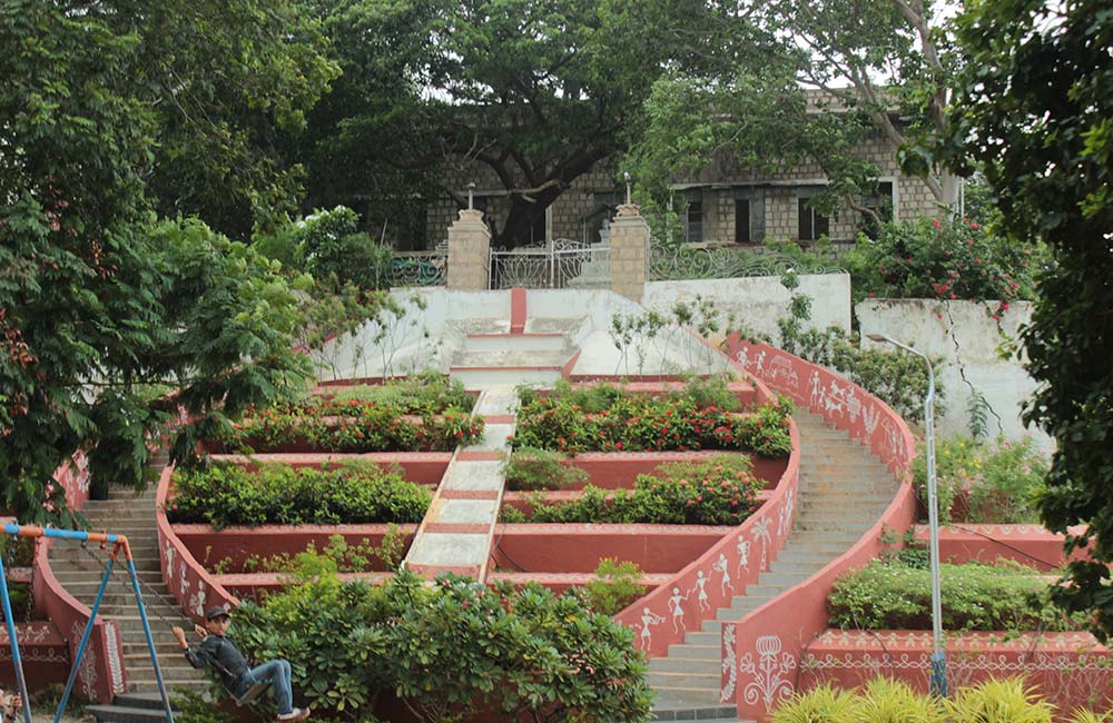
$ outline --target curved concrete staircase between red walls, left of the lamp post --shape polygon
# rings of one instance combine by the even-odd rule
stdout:
[[[799,507],[792,534],[769,571],[729,607],[669,654],[649,664],[659,721],[735,720],[733,706],[719,702],[721,621],[741,620],[802,583],[846,552],[881,515],[897,492],[888,468],[845,432],[823,417],[797,410],[800,429]]]

